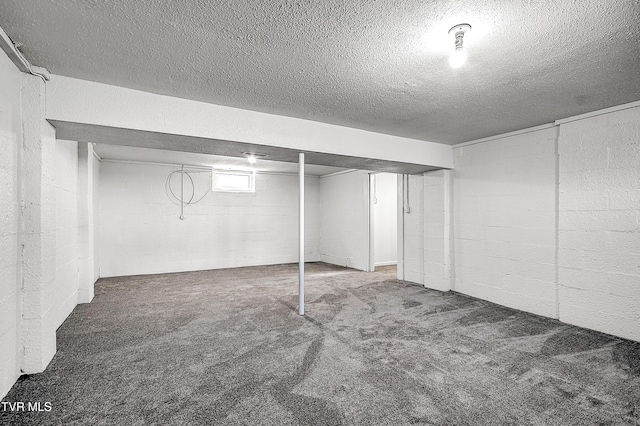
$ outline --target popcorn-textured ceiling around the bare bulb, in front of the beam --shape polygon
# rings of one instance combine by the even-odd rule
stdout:
[[[441,143],[640,99],[638,0],[3,0],[0,26],[54,74]]]

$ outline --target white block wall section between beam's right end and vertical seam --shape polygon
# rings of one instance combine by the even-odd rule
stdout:
[[[454,155],[454,290],[556,317],[556,129]]]

